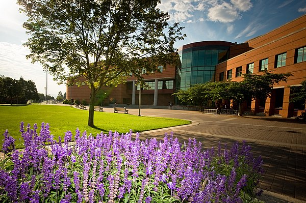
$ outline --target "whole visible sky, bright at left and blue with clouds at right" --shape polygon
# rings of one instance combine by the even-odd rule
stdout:
[[[44,93],[46,74],[40,64],[25,59],[28,48],[22,46],[28,36],[22,27],[26,20],[14,0],[0,0],[0,74],[33,80],[39,93]],[[306,14],[306,0],[162,0],[158,6],[169,12],[171,22],[181,22],[187,34],[185,44],[207,40],[243,43]],[[48,95],[66,92],[48,75]]]

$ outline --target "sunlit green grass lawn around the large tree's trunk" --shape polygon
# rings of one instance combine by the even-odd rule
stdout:
[[[137,115],[124,113],[94,112],[95,128],[87,126],[88,111],[83,111],[68,106],[56,105],[28,105],[28,106],[0,106],[0,149],[2,148],[4,137],[2,134],[8,129],[9,134],[16,139],[17,148],[22,147],[21,133],[19,132],[20,122],[24,126],[29,123],[31,127],[36,123],[38,133],[41,123],[48,123],[50,133],[56,138],[65,135],[65,132],[71,130],[74,134],[75,129],[79,128],[81,132],[85,130],[93,135],[110,130],[119,133],[141,132],[146,130],[155,130],[160,128],[190,124],[190,121],[171,118],[157,117],[138,117]]]

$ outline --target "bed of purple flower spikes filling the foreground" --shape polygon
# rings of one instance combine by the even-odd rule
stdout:
[[[20,125],[24,149],[4,133],[1,202],[254,202],[263,169],[245,141],[203,150],[172,134],[141,141],[138,133],[93,137],[67,131],[63,143]]]

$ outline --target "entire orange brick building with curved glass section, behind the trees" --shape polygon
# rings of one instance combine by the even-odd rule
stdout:
[[[266,101],[248,101],[244,110],[251,114],[280,115],[292,117],[305,106],[289,103],[289,85],[299,85],[306,76],[306,15],[303,15],[275,30],[250,39],[242,44],[224,41],[203,41],[182,46],[179,51],[179,66],[160,66],[162,73],[143,75],[150,86],[141,91],[141,104],[176,105],[172,94],[186,90],[191,84],[231,79],[241,81],[242,74],[292,73],[287,82],[275,84],[271,97]],[[136,78],[130,77],[116,88],[104,88],[110,94],[104,104],[138,104],[139,87]],[[67,87],[67,98],[89,102],[87,86]],[[224,101],[220,101],[221,103]]]

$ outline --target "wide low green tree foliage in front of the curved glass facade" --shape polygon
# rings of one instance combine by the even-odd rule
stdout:
[[[203,106],[209,101],[217,99],[233,99],[239,104],[239,115],[241,104],[250,99],[264,99],[270,97],[273,85],[286,81],[291,73],[275,74],[265,71],[263,75],[244,74],[243,81],[207,82],[194,84],[188,90],[180,90],[174,95],[182,102],[190,102],[194,105]],[[306,82],[305,82],[306,83]]]

